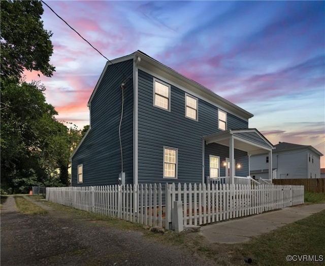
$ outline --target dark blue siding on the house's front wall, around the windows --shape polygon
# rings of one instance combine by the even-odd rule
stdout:
[[[185,92],[175,86],[171,86],[170,112],[153,106],[153,77],[139,70],[139,183],[202,182],[202,136],[220,130],[218,108],[202,99],[198,106],[199,121],[185,118]],[[228,129],[247,126],[228,114]],[[178,179],[163,178],[164,146],[178,148]],[[229,157],[225,148],[224,157]],[[220,152],[213,150],[216,155]],[[209,161],[206,165],[209,168]]]

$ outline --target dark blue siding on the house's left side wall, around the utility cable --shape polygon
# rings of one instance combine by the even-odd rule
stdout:
[[[118,63],[126,74],[121,125],[125,182],[133,183],[133,61]],[[116,184],[121,172],[118,128],[121,116],[121,83],[125,77],[108,66],[90,105],[91,129],[72,158],[72,185]],[[83,183],[77,183],[77,166],[83,164]]]

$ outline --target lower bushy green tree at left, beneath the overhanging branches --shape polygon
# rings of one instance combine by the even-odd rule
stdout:
[[[43,91],[39,83],[25,82],[6,84],[2,91],[1,179],[21,191],[31,184],[69,181],[69,130],[55,120],[57,112]]]

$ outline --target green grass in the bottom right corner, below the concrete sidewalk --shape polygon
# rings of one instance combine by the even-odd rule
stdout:
[[[287,255],[315,255],[325,259],[325,211],[287,224],[252,241],[237,245],[242,255],[257,265],[292,265]],[[294,261],[299,265],[319,265],[319,261]]]

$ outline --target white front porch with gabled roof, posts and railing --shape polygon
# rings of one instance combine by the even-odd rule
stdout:
[[[260,184],[260,183],[272,183],[272,150],[274,146],[268,141],[257,129],[230,129],[222,131],[213,135],[203,137],[203,155],[206,156],[205,149],[211,143],[217,143],[222,146],[229,147],[229,158],[224,158],[221,167],[225,167],[225,175],[220,175],[220,161],[218,162],[217,171],[211,171],[211,162],[209,165],[210,174],[205,175],[207,171],[203,170],[202,183],[206,184]],[[246,153],[248,160],[248,171],[241,172],[236,175],[236,169],[241,167],[240,163],[235,161],[235,149]],[[269,158],[269,178],[255,180],[249,176],[249,157],[255,154],[267,154]],[[203,160],[203,168],[205,168],[205,162]],[[247,167],[247,163],[246,163]]]

